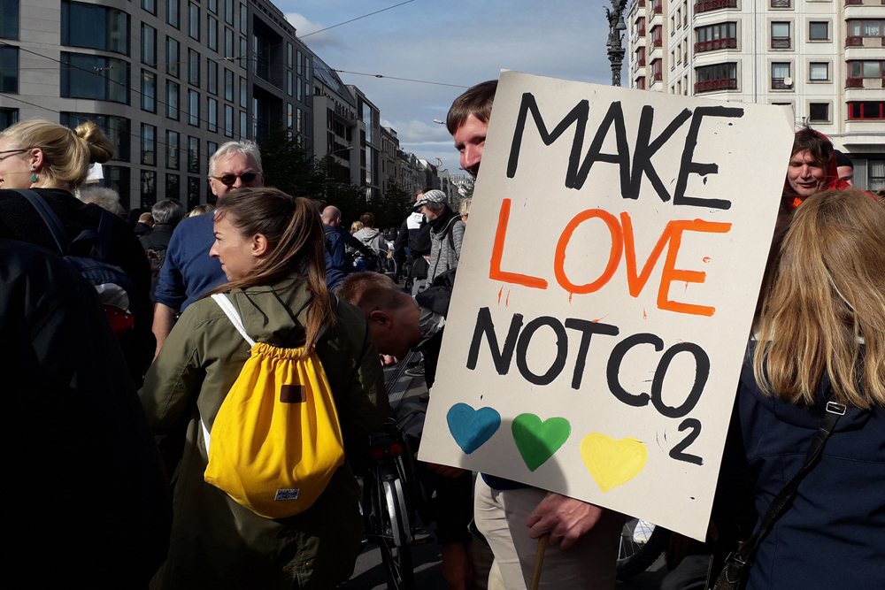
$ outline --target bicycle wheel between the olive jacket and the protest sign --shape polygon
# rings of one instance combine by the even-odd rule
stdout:
[[[412,590],[412,523],[405,510],[405,496],[399,478],[381,482],[384,535],[379,539],[381,562],[384,563],[390,590]]]

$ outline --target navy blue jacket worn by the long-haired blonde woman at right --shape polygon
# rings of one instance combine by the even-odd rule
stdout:
[[[764,515],[803,464],[824,415],[829,379],[821,380],[818,402],[811,407],[768,397],[753,377],[752,351],[751,346],[743,366],[738,427],[729,433],[717,503],[743,487],[733,474],[749,473],[756,512]],[[883,490],[885,411],[850,408],[839,419],[820,463],[759,546],[748,590],[881,587]],[[739,506],[741,501],[725,503]]]

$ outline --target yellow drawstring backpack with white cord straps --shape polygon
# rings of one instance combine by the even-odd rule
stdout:
[[[266,518],[310,508],[344,463],[341,426],[316,352],[253,341],[233,303],[212,295],[251,356],[221,404],[212,433],[203,424],[204,479]]]

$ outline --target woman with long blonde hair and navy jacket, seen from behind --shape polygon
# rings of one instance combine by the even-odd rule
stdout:
[[[800,469],[804,479],[759,535],[747,587],[879,587],[885,206],[855,189],[808,197],[793,213],[766,288],[717,503],[734,507],[735,491],[751,488],[759,527],[788,480]],[[825,441],[822,455],[804,465],[816,437]]]

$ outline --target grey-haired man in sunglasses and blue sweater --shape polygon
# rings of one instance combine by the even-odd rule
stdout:
[[[255,142],[224,143],[209,158],[209,186],[219,199],[235,188],[264,185],[261,152]],[[154,309],[157,352],[172,331],[175,315],[227,280],[218,259],[209,256],[215,241],[212,231],[212,215],[197,215],[183,219],[169,241]]]

